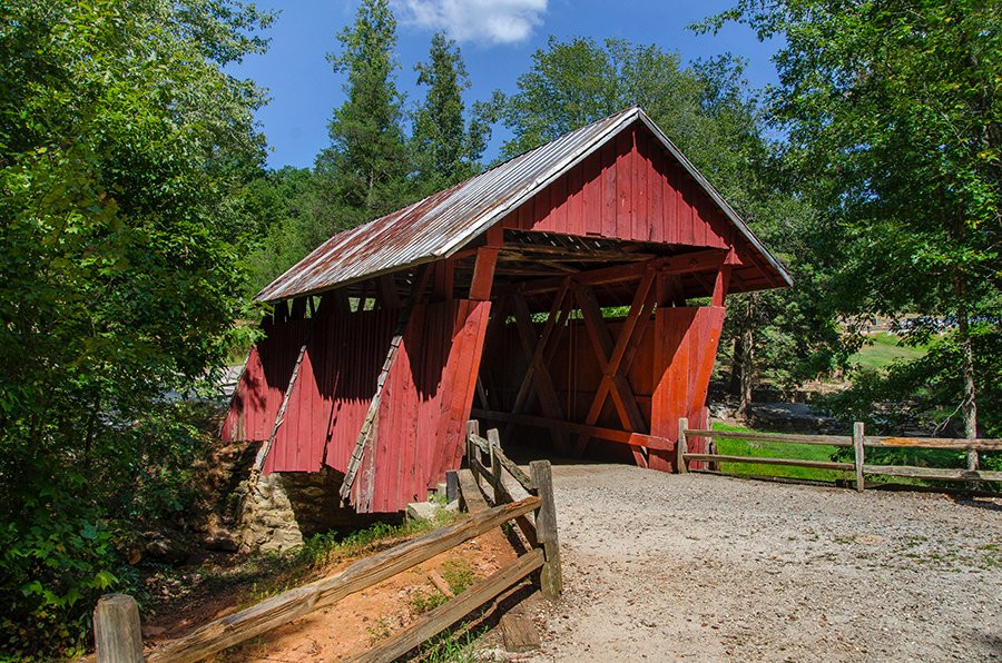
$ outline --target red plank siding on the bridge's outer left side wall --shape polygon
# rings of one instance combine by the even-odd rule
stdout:
[[[401,511],[409,502],[425,499],[429,487],[459,467],[489,314],[489,301],[414,308],[383,386],[373,445],[355,483],[358,512]],[[223,439],[268,438],[305,342],[299,374],[263,471],[318,472],[326,464],[344,472],[397,316],[387,309],[266,323],[267,336],[250,353]]]

